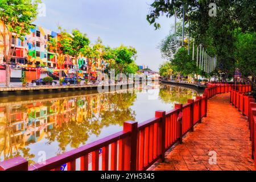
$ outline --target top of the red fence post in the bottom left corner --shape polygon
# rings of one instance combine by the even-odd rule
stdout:
[[[0,163],[0,171],[28,171],[26,159],[18,156]]]

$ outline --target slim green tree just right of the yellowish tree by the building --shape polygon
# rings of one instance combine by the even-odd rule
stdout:
[[[72,31],[72,51],[70,52],[70,55],[75,57],[76,60],[76,79],[79,80],[79,65],[77,63],[77,59],[82,53],[82,49],[84,47],[88,46],[90,43],[90,40],[87,38],[86,34],[82,34],[79,30],[73,30]]]

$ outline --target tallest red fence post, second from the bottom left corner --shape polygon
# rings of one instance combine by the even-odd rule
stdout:
[[[130,171],[136,171],[137,169],[137,135],[138,135],[138,122],[126,121],[123,123],[123,131],[131,132],[130,141],[128,146],[130,146]]]

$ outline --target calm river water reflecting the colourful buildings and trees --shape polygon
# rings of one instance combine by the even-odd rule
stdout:
[[[0,102],[0,161],[22,156],[30,164],[122,130],[123,122],[143,122],[156,110],[195,98],[195,90],[150,84],[98,94],[96,91],[9,96]]]

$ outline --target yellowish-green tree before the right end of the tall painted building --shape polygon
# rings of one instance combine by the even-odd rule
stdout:
[[[50,38],[48,41],[48,48],[52,49],[57,57],[57,64],[60,67],[59,78],[62,77],[61,67],[65,61],[65,57],[69,56],[69,53],[72,51],[72,37],[65,30],[62,30],[59,27],[59,34],[57,38]]]

